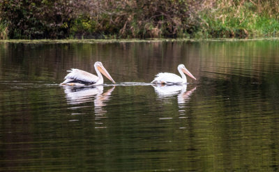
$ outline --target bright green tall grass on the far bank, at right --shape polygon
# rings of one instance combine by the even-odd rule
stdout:
[[[200,11],[196,37],[247,38],[277,36],[278,2],[220,0]]]

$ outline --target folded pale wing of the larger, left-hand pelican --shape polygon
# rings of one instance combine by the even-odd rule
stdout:
[[[78,81],[85,81],[89,83],[95,83],[98,80],[98,77],[96,75],[93,75],[89,72],[85,72],[84,70],[79,69],[72,69],[68,70],[68,75],[64,79],[73,79]]]

